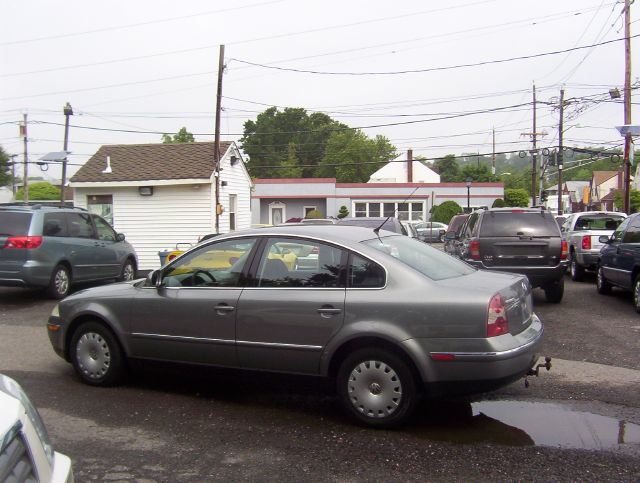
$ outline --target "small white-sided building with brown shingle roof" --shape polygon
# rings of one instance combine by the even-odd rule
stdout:
[[[220,151],[220,233],[251,224],[251,179],[235,143]],[[160,266],[158,252],[186,248],[216,232],[213,143],[103,146],[71,178],[75,205],[124,233],[140,270]]]

